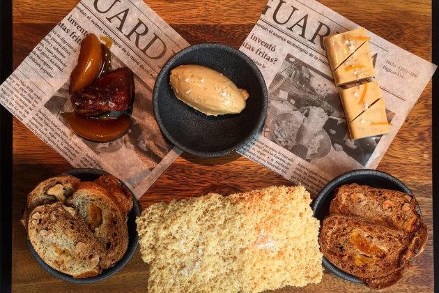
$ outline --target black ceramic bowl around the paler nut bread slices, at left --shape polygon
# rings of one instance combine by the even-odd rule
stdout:
[[[78,168],[78,169],[72,169],[64,172],[65,174],[70,174],[72,176],[77,177],[81,181],[93,181],[95,179],[98,179],[100,176],[108,174],[107,172],[97,170],[97,169],[88,169],[88,168]],[[65,280],[71,283],[79,283],[79,284],[86,284],[86,283],[95,283],[100,280],[104,280],[108,278],[111,275],[114,275],[114,273],[117,273],[120,271],[123,266],[130,260],[132,255],[134,254],[134,251],[137,248],[137,243],[139,243],[139,235],[136,231],[136,218],[137,216],[140,216],[141,208],[139,203],[136,200],[136,197],[132,194],[132,210],[128,214],[128,248],[125,252],[125,255],[116,262],[114,266],[111,266],[111,268],[105,269],[100,273],[98,276],[90,277],[90,278],[79,278],[75,279],[70,275],[67,275],[66,273],[61,273],[61,271],[56,271],[56,269],[53,269],[52,266],[49,266],[46,264],[36,253],[36,251],[33,249],[31,241],[29,239],[27,240],[27,245],[29,246],[29,249],[31,250],[31,253],[33,257],[35,257],[36,261],[40,266],[43,266],[43,269],[45,269],[48,273],[50,273],[52,276],[55,276],[56,278],[59,278],[61,280]]]

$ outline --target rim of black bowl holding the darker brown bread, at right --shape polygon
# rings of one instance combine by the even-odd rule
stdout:
[[[396,177],[386,172],[372,170],[372,169],[353,170],[335,177],[328,184],[326,184],[326,186],[321,190],[320,193],[318,193],[316,200],[314,200],[314,204],[312,204],[313,216],[315,216],[316,210],[318,211],[318,209],[321,206],[321,203],[325,200],[325,197],[328,196],[328,192],[330,190],[333,190],[337,186],[343,184],[345,180],[352,179],[353,177],[356,176],[376,176],[383,179],[387,179],[392,183],[395,183],[396,186],[399,186],[404,193],[413,196],[412,191],[406,186],[406,184],[404,184],[402,181],[400,181]],[[419,214],[421,214],[421,209],[419,208],[419,204],[418,204],[418,211]],[[337,266],[334,266],[334,264],[332,264],[328,259],[326,259],[326,257],[323,257],[322,262],[326,269],[328,269],[338,277],[344,280],[348,280],[352,283],[357,283],[357,284],[363,283],[362,280],[360,280],[359,278],[351,275],[350,273],[346,273],[345,271],[342,271],[341,269],[337,268]]]

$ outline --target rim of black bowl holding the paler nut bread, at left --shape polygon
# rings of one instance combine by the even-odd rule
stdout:
[[[93,168],[77,168],[77,169],[66,170],[65,172],[62,172],[61,174],[69,174],[72,176],[78,176],[78,174],[102,176],[102,175],[109,174],[109,173],[102,171],[102,170],[93,169]],[[121,182],[123,183],[123,181],[121,181]],[[124,183],[124,185],[125,185],[125,183]],[[130,190],[130,188],[128,188],[128,190]],[[132,206],[132,210],[130,211],[130,213],[128,215],[129,215],[129,217],[131,217],[131,216],[138,217],[138,216],[140,216],[141,208],[140,208],[139,202],[137,202],[137,199],[131,190],[130,190],[130,193],[132,194],[133,206]],[[134,237],[130,237],[128,239],[129,244],[128,244],[127,251],[125,252],[125,255],[123,255],[121,260],[118,260],[118,262],[116,262],[116,264],[114,266],[111,266],[108,269],[102,270],[102,273],[100,273],[98,276],[89,277],[89,278],[79,278],[79,279],[75,279],[66,273],[61,273],[61,271],[57,271],[56,269],[52,268],[52,266],[49,266],[49,264],[46,264],[41,259],[41,257],[38,255],[38,253],[36,253],[36,251],[33,249],[31,241],[29,241],[29,239],[26,239],[26,241],[27,241],[27,246],[29,247],[29,250],[31,250],[31,254],[35,258],[35,260],[38,262],[38,264],[40,264],[40,266],[43,266],[43,269],[45,269],[52,276],[55,276],[56,278],[59,278],[61,280],[64,280],[64,281],[67,281],[70,283],[88,284],[88,283],[95,283],[95,282],[98,282],[100,280],[105,280],[106,278],[109,278],[110,276],[112,276],[115,273],[117,273],[118,271],[120,271],[123,268],[123,266],[125,266],[125,264],[127,264],[130,261],[132,255],[136,251],[137,245],[139,244],[139,234],[137,234],[137,232],[136,232],[134,234]],[[130,243],[132,243],[131,246],[130,246]]]

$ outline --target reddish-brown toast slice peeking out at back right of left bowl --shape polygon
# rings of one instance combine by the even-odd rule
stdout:
[[[94,182],[98,183],[100,186],[108,191],[111,200],[114,200],[114,202],[116,202],[122,213],[127,215],[131,211],[132,195],[130,193],[130,190],[128,190],[125,184],[123,184],[119,179],[117,179],[113,175],[108,174],[100,176]]]

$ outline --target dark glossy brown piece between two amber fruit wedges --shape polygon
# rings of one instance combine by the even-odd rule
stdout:
[[[94,117],[110,111],[126,112],[132,107],[134,77],[129,68],[109,71],[96,82],[72,95],[77,114]]]

